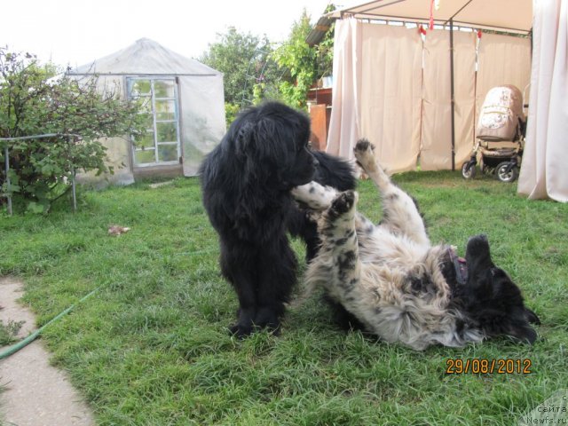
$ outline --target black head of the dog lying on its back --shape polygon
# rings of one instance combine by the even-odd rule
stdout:
[[[509,275],[493,264],[485,235],[469,239],[466,262],[468,280],[461,296],[477,327],[488,337],[510,335],[533,343],[537,335],[530,323],[540,319],[525,307],[521,290]]]

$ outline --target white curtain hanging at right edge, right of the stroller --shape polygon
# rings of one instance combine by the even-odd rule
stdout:
[[[518,193],[568,201],[568,2],[533,0],[533,71]]]

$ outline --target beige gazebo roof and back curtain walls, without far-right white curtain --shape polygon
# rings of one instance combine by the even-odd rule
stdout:
[[[467,159],[486,91],[530,77],[530,39],[448,31],[466,26],[528,34],[531,0],[376,0],[335,11],[333,109],[327,151],[351,156],[357,138],[374,140],[391,171],[454,169]],[[501,10],[501,8],[504,8]],[[509,8],[509,9],[508,9]],[[431,13],[430,13],[431,12]],[[376,25],[410,21],[438,26]]]

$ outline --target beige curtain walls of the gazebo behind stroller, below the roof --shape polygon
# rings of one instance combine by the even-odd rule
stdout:
[[[495,85],[523,90],[530,42],[484,34],[476,105],[475,33],[454,31],[455,168],[469,158],[478,109]],[[357,138],[376,146],[390,170],[452,168],[449,32],[338,20],[335,25],[333,109],[327,152],[352,158]],[[422,52],[424,68],[422,74]]]

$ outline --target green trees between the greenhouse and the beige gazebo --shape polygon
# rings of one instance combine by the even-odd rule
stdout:
[[[326,12],[335,10],[327,6]],[[330,75],[333,64],[333,26],[316,46],[305,39],[312,30],[310,17],[303,12],[288,40],[277,49],[264,37],[241,34],[229,28],[218,35],[217,43],[201,55],[201,62],[224,74],[227,123],[233,121],[234,109],[264,99],[279,99],[290,106],[304,107],[309,89],[319,78]]]

